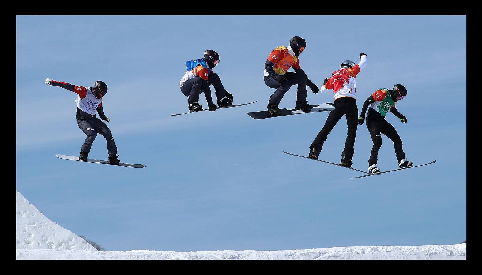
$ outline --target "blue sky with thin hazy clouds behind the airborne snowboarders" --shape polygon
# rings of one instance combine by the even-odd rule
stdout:
[[[278,23],[277,23],[278,22]],[[281,24],[281,25],[280,25]],[[336,246],[455,244],[466,239],[466,16],[17,16],[16,188],[49,219],[106,250],[293,250]],[[407,97],[387,120],[416,164],[360,173],[283,154],[307,155],[327,112],[254,120],[274,89],[263,81],[274,48],[306,39],[300,64],[318,86],[344,60],[357,76],[358,108],[376,89],[401,83]],[[187,112],[185,62],[216,50],[214,69],[234,103]],[[104,112],[121,162],[131,169],[60,160],[85,135],[76,94],[107,83]],[[212,88],[214,97],[214,89]],[[292,87],[280,108],[292,107]],[[204,95],[200,103],[205,105]],[[308,103],[333,102],[313,94]],[[342,118],[320,159],[338,162]],[[381,170],[395,169],[385,137]],[[358,127],[353,167],[366,170],[372,141]],[[97,136],[89,157],[107,159]]]

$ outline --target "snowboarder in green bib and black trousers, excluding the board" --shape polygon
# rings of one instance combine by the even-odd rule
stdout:
[[[399,168],[406,168],[414,165],[413,162],[409,162],[405,158],[405,152],[402,150],[402,139],[400,139],[397,130],[385,120],[387,112],[390,111],[396,115],[402,123],[407,123],[407,118],[395,108],[396,102],[402,100],[406,96],[407,89],[403,87],[402,84],[396,84],[391,90],[388,88],[378,89],[363,103],[362,113],[358,118],[358,124],[362,125],[365,121],[365,112],[368,105],[370,105],[366,117],[366,127],[373,140],[372,153],[368,159],[368,172],[371,174],[380,172],[380,169],[376,167],[376,163],[378,161],[378,150],[380,150],[380,147],[382,146],[381,134],[384,134],[393,141]]]

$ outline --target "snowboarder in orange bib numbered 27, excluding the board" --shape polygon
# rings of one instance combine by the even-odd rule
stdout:
[[[270,88],[275,88],[276,91],[269,97],[268,112],[272,116],[281,115],[281,110],[278,108],[284,94],[293,85],[298,85],[298,92],[296,93],[296,107],[303,112],[311,111],[311,106],[308,104],[306,97],[308,86],[313,93],[319,91],[318,87],[308,79],[308,76],[301,69],[298,56],[305,50],[305,39],[295,36],[290,40],[290,46],[280,46],[268,56],[265,63],[265,73],[263,78],[266,85]],[[287,72],[289,68],[293,67],[295,73]]]

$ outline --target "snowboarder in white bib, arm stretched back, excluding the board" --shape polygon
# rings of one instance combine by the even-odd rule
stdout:
[[[95,137],[97,137],[97,133],[99,133],[107,140],[109,163],[119,164],[119,155],[117,155],[117,146],[114,142],[114,137],[112,137],[109,127],[95,116],[95,112],[98,112],[102,120],[110,121],[104,114],[104,107],[102,107],[102,97],[107,93],[106,83],[99,80],[94,83],[94,87],[81,87],[47,78],[45,79],[45,84],[63,87],[77,94],[77,100],[75,100],[77,103],[77,114],[75,118],[80,130],[87,135],[85,142],[80,147],[79,160],[87,161],[92,143]]]

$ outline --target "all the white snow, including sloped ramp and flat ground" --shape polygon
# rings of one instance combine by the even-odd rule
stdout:
[[[84,239],[45,217],[18,191],[16,212],[17,260],[466,260],[467,258],[467,243],[275,251],[97,251]]]

